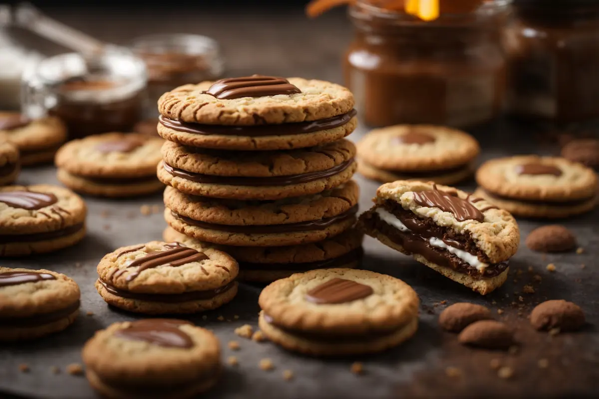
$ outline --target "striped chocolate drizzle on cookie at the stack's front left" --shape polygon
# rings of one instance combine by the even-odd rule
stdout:
[[[134,280],[135,278],[137,278],[137,276],[140,275],[141,272],[147,269],[152,269],[153,267],[178,267],[183,266],[187,263],[199,262],[201,260],[210,259],[206,254],[198,252],[193,248],[183,246],[179,242],[169,243],[164,246],[164,249],[166,250],[148,253],[141,258],[135,259],[134,261],[129,263],[124,269],[120,269],[116,273],[114,273],[114,278],[118,278],[119,276],[123,275],[123,273],[125,273],[131,267],[137,267],[137,270],[131,272],[129,276],[127,276],[127,281]],[[124,252],[126,253],[127,251]],[[118,256],[122,254],[123,252],[121,252]]]

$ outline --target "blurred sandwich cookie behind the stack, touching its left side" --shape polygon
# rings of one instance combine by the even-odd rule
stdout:
[[[78,193],[104,197],[162,190],[156,165],[163,142],[139,133],[105,133],[68,142],[56,154],[58,179]]]

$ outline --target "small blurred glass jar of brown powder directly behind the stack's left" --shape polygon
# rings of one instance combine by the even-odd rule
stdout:
[[[150,116],[165,92],[188,83],[214,80],[223,73],[219,44],[207,36],[148,35],[135,39],[131,49],[146,62]]]

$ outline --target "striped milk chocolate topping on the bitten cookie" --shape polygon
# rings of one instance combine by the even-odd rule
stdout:
[[[476,220],[479,222],[485,221],[485,215],[479,211],[470,202],[461,199],[456,195],[438,191],[437,186],[433,186],[431,191],[419,191],[414,193],[414,201],[420,206],[428,206],[430,208],[439,208],[444,212],[451,212],[456,220]]]

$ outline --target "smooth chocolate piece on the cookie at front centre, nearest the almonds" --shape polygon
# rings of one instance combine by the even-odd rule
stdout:
[[[305,300],[317,304],[346,303],[374,293],[369,285],[341,278],[331,279],[305,294]]]

